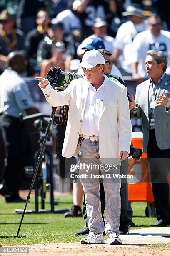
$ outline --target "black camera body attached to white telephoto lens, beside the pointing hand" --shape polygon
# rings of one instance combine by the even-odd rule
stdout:
[[[62,73],[60,67],[52,67],[45,78],[48,79],[51,84],[60,87],[62,83],[64,83],[65,75]]]

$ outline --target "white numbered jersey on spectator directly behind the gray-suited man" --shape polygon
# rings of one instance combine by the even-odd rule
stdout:
[[[167,31],[168,32],[168,31]],[[163,51],[168,58],[168,67],[170,65],[169,51],[170,51],[170,37],[168,33],[161,31],[160,35],[155,37],[150,31],[139,33],[133,40],[133,51],[131,62],[138,62],[138,74],[143,78],[148,78],[145,70],[146,53],[149,50]]]

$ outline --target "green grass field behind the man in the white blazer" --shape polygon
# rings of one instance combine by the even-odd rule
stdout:
[[[59,205],[55,209],[65,209],[72,206],[72,195],[57,196]],[[15,208],[23,209],[25,203],[5,203],[5,199],[0,197],[0,245],[25,245],[39,243],[66,243],[79,242],[80,237],[74,233],[82,230],[84,226],[83,218],[63,218],[63,214],[26,214],[20,229],[20,236],[16,236],[21,214],[15,212]],[[155,218],[145,217],[145,202],[133,202],[133,222],[135,228],[148,227],[155,223]],[[50,203],[46,203],[46,208],[50,209]],[[34,197],[30,199],[27,209],[35,209]],[[134,229],[134,228],[131,228]]]

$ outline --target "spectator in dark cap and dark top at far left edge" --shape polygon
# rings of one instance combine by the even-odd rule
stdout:
[[[7,55],[14,50],[24,49],[24,34],[15,28],[16,20],[7,10],[0,13],[0,68],[7,63]]]

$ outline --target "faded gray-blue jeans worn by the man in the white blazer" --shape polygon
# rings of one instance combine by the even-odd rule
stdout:
[[[91,166],[88,171],[79,169],[80,181],[85,192],[89,233],[101,234],[105,230],[107,236],[110,236],[112,232],[119,235],[120,179],[116,179],[116,181],[111,178],[109,180],[102,179],[105,190],[105,227],[102,220],[99,169],[101,174],[106,174],[106,172],[100,167],[97,168],[97,166],[104,166],[100,161],[98,141],[82,140],[79,164]],[[94,166],[96,166],[96,169]],[[120,174],[120,166],[117,166],[116,171],[112,170],[112,172]],[[81,177],[81,174],[87,174],[88,177]],[[97,177],[93,178],[92,175]]]

